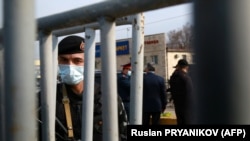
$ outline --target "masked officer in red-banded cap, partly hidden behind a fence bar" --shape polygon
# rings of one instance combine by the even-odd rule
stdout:
[[[130,107],[130,75],[131,75],[131,63],[122,66],[122,71],[117,76],[117,89],[118,94],[121,97],[128,119],[129,119],[129,107]]]

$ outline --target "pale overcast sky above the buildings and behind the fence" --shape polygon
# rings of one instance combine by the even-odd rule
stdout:
[[[71,9],[98,3],[104,0],[35,0],[36,18],[53,15]],[[192,3],[181,4],[153,11],[144,12],[145,35],[168,33],[180,30],[185,24],[192,24]],[[3,0],[0,0],[0,28],[3,27]],[[116,39],[130,38],[131,25],[116,27]],[[83,33],[84,35],[84,33]],[[96,41],[100,41],[100,33],[96,33]],[[60,40],[60,38],[59,38]]]

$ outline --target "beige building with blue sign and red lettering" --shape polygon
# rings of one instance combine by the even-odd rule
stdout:
[[[132,39],[117,40],[117,70],[122,69],[123,64],[131,62]],[[96,49],[96,69],[101,69],[101,58],[98,54],[99,47]],[[144,37],[144,65],[153,64],[156,73],[166,78],[166,36],[164,33],[147,35]]]

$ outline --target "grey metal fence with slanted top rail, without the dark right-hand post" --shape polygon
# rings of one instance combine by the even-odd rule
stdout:
[[[33,0],[4,0],[4,28],[0,30],[1,140],[37,140],[36,83],[34,41],[39,41],[41,92],[43,103],[42,134],[45,141],[55,140],[55,93],[57,41],[59,36],[85,32],[84,105],[93,105],[95,30],[101,31],[104,141],[117,141],[115,27],[133,27],[131,124],[140,124],[142,116],[142,76],[144,49],[144,11],[154,10],[185,0],[109,0],[39,19],[34,17]],[[109,102],[112,101],[112,102]],[[82,140],[92,137],[93,108],[84,108]],[[112,120],[112,121],[111,121]],[[86,130],[87,129],[87,130]],[[111,130],[107,130],[111,129]]]

